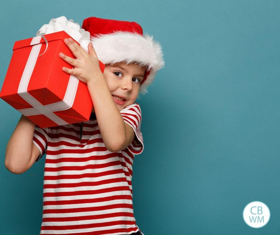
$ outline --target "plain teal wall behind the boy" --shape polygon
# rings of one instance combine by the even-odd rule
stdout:
[[[138,101],[144,152],[133,207],[145,235],[279,234],[280,3],[277,1],[6,1],[0,4],[0,83],[15,41],[51,18],[136,21],[160,41],[166,66]],[[0,100],[1,234],[39,234],[44,160],[4,166],[20,113]],[[262,201],[270,221],[242,218]]]

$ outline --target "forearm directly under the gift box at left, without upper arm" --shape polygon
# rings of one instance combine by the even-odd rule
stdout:
[[[14,168],[15,166],[26,165],[30,161],[34,129],[35,123],[21,115],[7,144],[5,154],[6,167]]]

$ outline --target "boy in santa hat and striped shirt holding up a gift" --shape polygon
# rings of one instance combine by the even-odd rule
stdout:
[[[134,102],[164,66],[163,53],[135,22],[90,17],[82,28],[91,34],[88,53],[65,40],[77,59],[60,57],[69,63],[63,71],[88,86],[90,120],[41,129],[21,116],[5,166],[21,174],[46,152],[40,234],[140,234],[131,179],[144,144]],[[106,65],[103,74],[98,59]]]

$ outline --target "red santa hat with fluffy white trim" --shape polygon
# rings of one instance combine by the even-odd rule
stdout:
[[[84,19],[82,28],[91,35],[91,42],[98,59],[103,64],[135,62],[146,66],[141,81],[141,94],[153,82],[157,71],[164,67],[161,45],[136,22],[110,20],[97,17]]]

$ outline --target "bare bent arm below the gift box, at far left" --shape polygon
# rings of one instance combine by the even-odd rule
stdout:
[[[27,171],[40,155],[32,143],[35,123],[21,115],[17,126],[7,144],[5,167],[14,174]]]

